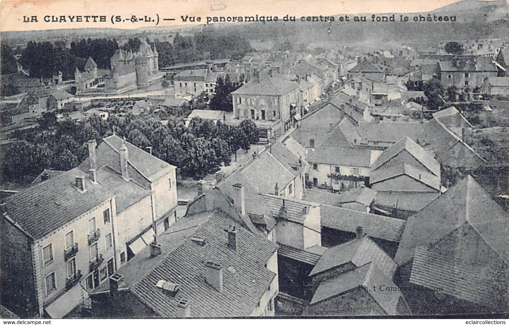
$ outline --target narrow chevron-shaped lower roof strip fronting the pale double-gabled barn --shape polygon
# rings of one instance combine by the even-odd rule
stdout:
[[[372,171],[370,175],[370,184],[382,182],[386,179],[398,177],[401,175],[410,176],[416,181],[426,184],[436,190],[440,190],[440,178],[403,162],[393,166],[383,166],[375,171]]]

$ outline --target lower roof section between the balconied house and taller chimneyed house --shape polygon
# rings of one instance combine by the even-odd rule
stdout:
[[[108,166],[104,166],[97,171],[97,181],[110,188],[117,195],[117,213],[126,210],[150,195],[150,189],[137,184],[133,180],[124,180],[122,175]]]

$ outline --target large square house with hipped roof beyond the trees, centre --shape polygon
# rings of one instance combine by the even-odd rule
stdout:
[[[267,69],[232,92],[234,119],[238,125],[252,120],[260,128],[260,138],[277,137],[288,131],[299,107],[299,85]]]

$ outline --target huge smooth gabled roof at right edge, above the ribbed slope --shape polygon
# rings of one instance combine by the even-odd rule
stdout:
[[[469,175],[408,218],[395,261],[399,265],[407,263],[416,246],[436,243],[465,223],[502,259],[509,260],[509,217]]]

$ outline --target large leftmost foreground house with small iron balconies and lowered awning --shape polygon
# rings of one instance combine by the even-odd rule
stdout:
[[[9,197],[2,216],[2,304],[61,318],[116,270],[116,196],[78,168]],[[79,283],[81,284],[79,284]]]

